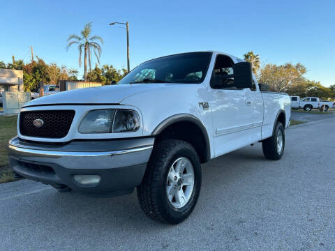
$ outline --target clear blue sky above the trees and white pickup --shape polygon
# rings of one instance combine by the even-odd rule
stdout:
[[[335,1],[2,1],[0,61],[30,60],[29,46],[47,63],[78,66],[70,33],[93,22],[105,43],[101,64],[126,68],[129,22],[131,68],[178,52],[218,50],[242,56],[253,50],[262,63],[301,62],[306,77],[335,84]],[[96,61],[94,61],[95,64]]]

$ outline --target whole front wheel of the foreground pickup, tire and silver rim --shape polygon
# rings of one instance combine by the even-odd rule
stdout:
[[[151,219],[178,224],[190,215],[201,188],[201,165],[188,142],[163,140],[155,146],[137,197]]]

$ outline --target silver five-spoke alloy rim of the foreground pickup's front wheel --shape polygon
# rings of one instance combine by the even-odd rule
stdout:
[[[181,208],[190,200],[194,187],[193,165],[188,158],[175,160],[166,181],[168,200],[174,208]]]

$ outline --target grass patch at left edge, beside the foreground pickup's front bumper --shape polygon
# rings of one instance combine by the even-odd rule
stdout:
[[[0,183],[15,181],[13,172],[8,169],[8,140],[17,135],[17,116],[0,116]]]

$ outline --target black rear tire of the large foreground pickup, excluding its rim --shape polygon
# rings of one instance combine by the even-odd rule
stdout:
[[[281,148],[281,151],[278,151],[278,146],[277,146],[277,136],[278,136],[278,133],[280,133],[279,131],[281,131],[283,135],[283,146]],[[263,140],[262,148],[263,148],[263,153],[265,155],[265,158],[267,158],[268,160],[280,160],[281,159],[284,153],[284,149],[285,149],[285,130],[281,122],[276,123],[276,126],[274,128],[274,135],[272,135],[272,137],[269,137],[268,139]]]

